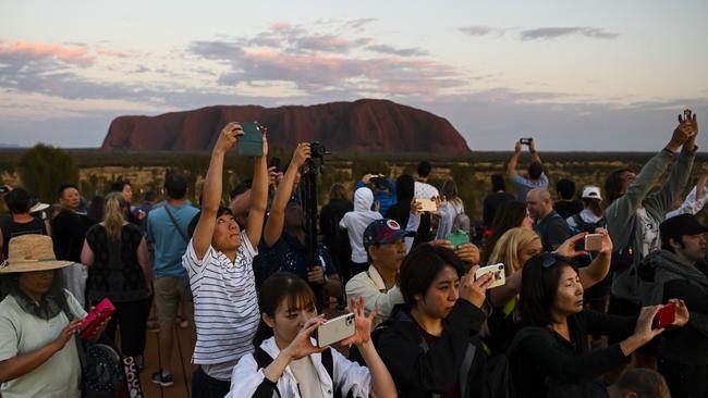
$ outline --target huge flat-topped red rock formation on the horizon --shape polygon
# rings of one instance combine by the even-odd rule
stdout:
[[[267,126],[269,142],[281,148],[321,141],[330,150],[347,152],[469,152],[447,120],[373,99],[310,107],[218,105],[158,116],[120,116],[111,122],[101,148],[209,150],[227,123],[253,121]]]

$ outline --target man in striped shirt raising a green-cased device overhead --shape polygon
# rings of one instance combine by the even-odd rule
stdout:
[[[227,124],[219,134],[204,183],[199,221],[183,258],[197,326],[192,360],[199,368],[192,377],[194,398],[223,397],[229,393],[233,366],[241,357],[253,352],[253,337],[260,320],[253,259],[258,253],[268,195],[265,128],[264,154],[255,158],[251,207],[243,233],[231,210],[220,206],[223,159],[243,134],[237,123]]]

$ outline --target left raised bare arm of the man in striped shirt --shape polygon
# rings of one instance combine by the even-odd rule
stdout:
[[[204,254],[209,250],[213,228],[217,225],[217,212],[219,211],[219,203],[221,203],[223,158],[236,145],[237,137],[243,134],[243,128],[239,123],[227,124],[219,133],[217,144],[211,151],[209,170],[207,171],[202,194],[202,214],[192,237],[192,245],[194,246],[194,252],[197,254],[197,260],[204,259]],[[254,184],[256,183],[254,182]],[[266,184],[268,184],[267,178]]]

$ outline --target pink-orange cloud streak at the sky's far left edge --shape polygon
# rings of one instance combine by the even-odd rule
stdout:
[[[96,59],[88,53],[87,49],[81,47],[64,47],[61,45],[25,41],[0,43],[0,55],[25,61],[57,59],[80,66],[89,66]]]

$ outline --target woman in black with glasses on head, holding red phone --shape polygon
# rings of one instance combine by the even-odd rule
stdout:
[[[510,349],[514,382],[521,397],[594,397],[605,393],[598,376],[628,362],[630,355],[660,335],[652,320],[663,306],[645,307],[638,318],[585,310],[581,274],[571,259],[556,253],[532,258],[522,272],[518,302],[522,324]],[[688,321],[675,300],[675,320]],[[588,335],[622,334],[610,347],[590,351]]]

